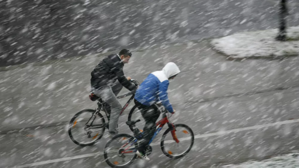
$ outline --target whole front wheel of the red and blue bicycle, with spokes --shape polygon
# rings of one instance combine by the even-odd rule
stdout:
[[[194,143],[192,129],[185,124],[175,124],[173,134],[172,129],[168,128],[161,138],[161,149],[164,155],[172,159],[178,159],[190,152]],[[178,141],[176,141],[177,139]]]

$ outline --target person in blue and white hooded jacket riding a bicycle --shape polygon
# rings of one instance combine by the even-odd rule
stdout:
[[[179,67],[173,62],[169,62],[162,71],[149,74],[135,93],[134,102],[146,122],[143,129],[143,139],[140,141],[136,154],[147,161],[149,158],[145,155],[146,148],[155,133],[155,123],[160,116],[160,111],[154,103],[161,101],[168,112],[172,114],[175,112],[168,100],[167,89],[169,80],[179,73]]]

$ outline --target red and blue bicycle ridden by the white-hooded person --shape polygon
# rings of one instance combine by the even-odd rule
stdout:
[[[166,155],[167,157],[172,158],[172,159],[178,159],[178,158],[183,157],[188,152],[190,152],[191,148],[193,147],[194,133],[193,133],[192,129],[185,124],[174,124],[174,123],[170,122],[170,120],[169,120],[170,117],[167,116],[167,114],[169,114],[169,112],[167,110],[165,110],[164,106],[162,106],[161,104],[155,104],[155,105],[158,106],[158,109],[162,113],[162,119],[156,123],[155,134],[147,146],[146,155],[150,155],[152,153],[152,147],[150,146],[150,144],[155,139],[155,137],[158,135],[158,133],[161,131],[163,126],[167,123],[168,129],[163,133],[161,142],[160,142],[161,150],[164,153],[164,155]],[[126,122],[126,124],[130,127],[130,129],[132,127],[132,129],[134,130],[133,131],[134,136],[131,136],[129,134],[118,134],[106,143],[106,146],[104,148],[104,159],[110,167],[125,168],[125,167],[128,167],[129,165],[131,165],[134,162],[134,160],[137,158],[137,154],[136,154],[137,149],[136,148],[138,147],[138,140],[141,140],[142,135],[143,135],[143,132],[141,132],[135,126],[135,124],[138,123],[139,121],[140,121],[140,119]],[[183,128],[182,132],[184,134],[190,135],[190,138],[182,138],[179,140],[177,138],[177,133],[179,133],[179,131],[177,131],[177,130],[179,127],[182,127]],[[169,132],[171,134],[170,140],[165,140],[165,138],[167,137],[167,134]],[[190,140],[189,147],[184,152],[179,153],[177,155],[175,152],[168,150],[164,146],[165,144],[168,144],[168,143],[180,144],[181,142],[184,142],[187,140]],[[108,156],[109,149],[116,146],[114,144],[114,141],[116,143],[122,143],[123,145],[120,146],[120,148],[116,147],[115,150],[112,150],[112,153],[116,153],[116,156],[109,157]],[[110,145],[111,145],[111,147],[110,147]],[[127,145],[129,145],[129,146],[127,146]],[[134,145],[134,146],[131,147],[132,145]],[[126,156],[129,156],[129,155],[132,155],[132,158],[129,159],[128,162],[121,165],[120,162],[125,162],[124,159],[126,158]],[[120,162],[116,161],[118,158],[120,158],[120,160],[121,160]]]

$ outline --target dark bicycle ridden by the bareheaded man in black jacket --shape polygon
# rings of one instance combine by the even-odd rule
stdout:
[[[138,83],[138,81],[131,79],[130,82],[134,83],[134,85],[139,86],[140,84]],[[126,102],[126,104],[123,106],[123,108],[120,111],[120,115],[123,113],[123,111],[127,108],[127,106],[129,106],[129,103],[131,103],[131,101],[133,100],[135,93],[133,92],[128,92],[126,94],[123,94],[121,96],[118,96],[117,99],[121,99],[123,97],[127,97],[129,95],[132,95],[129,100]],[[91,101],[98,101],[97,102],[97,108],[95,109],[83,109],[80,112],[77,112],[70,120],[69,125],[68,125],[68,135],[71,138],[71,140],[80,146],[89,146],[89,145],[93,145],[94,143],[96,143],[99,139],[101,139],[105,133],[105,129],[109,129],[109,120],[110,120],[110,113],[107,112],[106,107],[108,106],[107,103],[105,103],[105,101],[100,98],[97,97],[95,94],[93,94],[92,92],[90,92],[89,95],[89,99]],[[103,115],[100,113],[100,111],[105,112],[106,117],[108,119],[108,122],[105,123],[105,119],[103,117]],[[82,116],[82,114],[87,113],[87,116],[84,117]],[[92,119],[93,118],[93,119]],[[95,121],[95,119],[98,118],[98,123],[97,121]],[[85,121],[87,121],[85,123]],[[78,140],[75,140],[74,136],[76,136],[76,134],[72,134],[72,130],[75,128],[79,128],[78,125],[80,125],[80,123],[83,123],[83,129],[79,129],[79,131],[81,131],[82,137],[86,138],[87,137],[87,142],[80,142]],[[94,130],[93,129],[97,129]],[[91,140],[91,141],[89,141]]]

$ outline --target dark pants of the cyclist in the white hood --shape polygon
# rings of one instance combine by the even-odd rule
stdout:
[[[149,141],[155,134],[156,121],[160,116],[160,111],[155,105],[146,106],[139,103],[136,99],[134,99],[134,102],[141,111],[141,115],[145,120],[145,125],[143,127],[143,139],[139,141],[140,143],[138,146],[138,151],[145,153]]]

